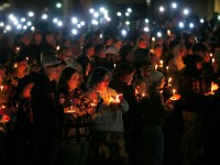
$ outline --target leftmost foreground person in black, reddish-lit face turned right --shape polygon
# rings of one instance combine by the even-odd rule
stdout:
[[[13,129],[8,135],[8,150],[12,164],[33,164],[34,157],[34,116],[31,105],[31,91],[34,86],[32,75],[24,76],[15,88],[15,94],[7,105],[8,116],[11,118]]]

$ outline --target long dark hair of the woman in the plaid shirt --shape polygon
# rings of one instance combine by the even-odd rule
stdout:
[[[64,94],[64,95],[68,95],[68,80],[70,79],[72,75],[78,73],[76,69],[72,68],[72,67],[66,67],[61,75],[59,81],[58,81],[58,92],[59,94]]]

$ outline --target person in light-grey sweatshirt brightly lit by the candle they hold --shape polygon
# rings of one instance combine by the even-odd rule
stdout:
[[[118,94],[108,87],[110,80],[111,73],[105,67],[97,67],[87,84],[88,92],[97,92],[103,100],[90,123],[90,164],[129,163],[122,120],[122,114],[129,110],[129,105],[123,98],[120,102],[114,102]]]

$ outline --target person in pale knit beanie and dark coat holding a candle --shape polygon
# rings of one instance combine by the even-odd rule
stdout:
[[[147,106],[140,105],[142,108],[142,146],[141,146],[141,164],[162,165],[164,154],[164,136],[162,128],[166,117],[174,108],[173,101],[164,101],[161,89],[165,84],[164,75],[154,70],[150,75],[151,85],[148,87]]]

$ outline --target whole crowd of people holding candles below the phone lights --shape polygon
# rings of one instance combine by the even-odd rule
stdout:
[[[0,36],[0,163],[219,162],[220,41]]]

